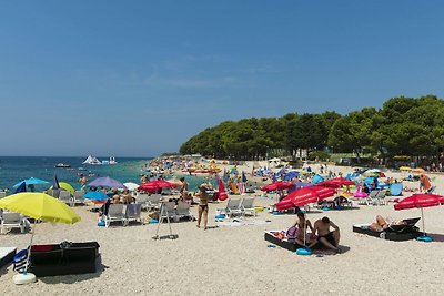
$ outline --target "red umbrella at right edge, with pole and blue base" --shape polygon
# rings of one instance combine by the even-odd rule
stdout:
[[[425,222],[424,222],[424,207],[437,206],[444,204],[444,196],[436,194],[413,194],[412,196],[401,200],[398,203],[394,204],[396,211],[407,210],[407,208],[421,208],[421,216],[423,220],[423,233],[424,236],[421,238],[425,242],[431,242],[432,238],[425,234]]]

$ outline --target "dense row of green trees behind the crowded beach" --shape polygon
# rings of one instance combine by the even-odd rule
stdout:
[[[200,153],[218,159],[255,160],[269,151],[295,155],[370,153],[383,160],[395,155],[440,157],[444,150],[444,100],[435,95],[392,98],[345,115],[336,112],[297,112],[282,118],[225,121],[192,136],[181,154]]]

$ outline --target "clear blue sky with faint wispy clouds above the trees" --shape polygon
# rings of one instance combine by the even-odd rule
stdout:
[[[0,155],[155,156],[222,121],[444,92],[444,2],[1,1]]]

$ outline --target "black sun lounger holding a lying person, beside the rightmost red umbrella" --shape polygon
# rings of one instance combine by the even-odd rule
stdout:
[[[381,232],[371,229],[371,224],[356,224],[353,225],[353,232],[395,242],[408,241],[422,235],[422,233],[418,232],[417,227],[415,226],[415,224],[420,221],[418,217],[407,218],[404,221],[406,222],[406,225],[390,225],[387,228]]]

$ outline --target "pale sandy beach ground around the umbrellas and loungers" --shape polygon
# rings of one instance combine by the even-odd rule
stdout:
[[[239,169],[251,172],[249,166]],[[345,173],[351,167],[332,170]],[[389,172],[389,176],[401,177],[401,173]],[[437,193],[442,194],[444,176],[434,176]],[[417,187],[417,183],[406,185]],[[215,210],[225,203],[210,205],[210,226],[218,226]],[[271,203],[272,200],[255,198],[255,205]],[[98,272],[43,277],[36,284],[16,286],[14,272],[9,266],[0,269],[3,295],[441,295],[444,288],[442,207],[424,210],[426,231],[433,243],[390,242],[352,232],[353,224],[371,223],[377,214],[418,217],[420,210],[394,211],[390,203],[310,212],[307,218],[312,222],[327,215],[341,228],[340,245],[344,252],[325,256],[299,256],[280,247],[268,247],[264,231],[287,229],[295,215],[272,215],[264,211],[245,218],[255,225],[208,231],[198,229],[195,222],[173,223],[178,239],[154,241],[151,237],[155,224],[98,227],[97,214],[88,208],[75,207],[82,221],[74,225],[39,224],[34,244],[97,241],[101,253]],[[194,214],[195,211],[193,206]],[[265,223],[268,220],[271,222]],[[161,225],[160,234],[168,234],[167,224]],[[0,246],[20,249],[29,239],[30,234],[13,232],[0,236]]]

